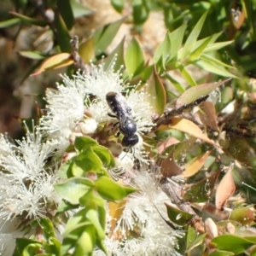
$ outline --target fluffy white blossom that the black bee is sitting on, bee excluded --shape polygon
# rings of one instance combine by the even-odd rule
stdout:
[[[94,137],[108,147],[109,140],[117,141],[117,133],[109,127],[118,128],[116,124],[120,120],[109,116],[106,95],[110,91],[117,94],[126,91],[125,101],[137,125],[135,136],[139,142],[128,154],[133,160],[146,162],[148,154],[144,150],[142,135],[154,125],[148,95],[144,90],[137,90],[137,87],[131,90],[129,84],[125,85],[121,79],[122,67],[115,71],[114,65],[115,60],[109,67],[105,67],[103,62],[97,66],[90,64],[90,73],[77,73],[72,79],[67,75],[62,76],[63,84],[57,84],[57,90],[46,90],[46,114],[40,120],[39,129],[45,131],[49,138],[58,139],[61,151],[73,143],[76,136],[84,135]],[[113,151],[116,150],[113,148]]]

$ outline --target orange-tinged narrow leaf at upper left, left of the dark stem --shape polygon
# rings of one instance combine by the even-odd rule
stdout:
[[[71,59],[71,55],[68,53],[61,53],[58,55],[54,55],[46,59],[42,65],[38,68],[36,73],[32,73],[31,76],[36,76],[40,73],[43,73],[48,70],[54,70],[61,67],[66,67],[73,64],[73,60]]]

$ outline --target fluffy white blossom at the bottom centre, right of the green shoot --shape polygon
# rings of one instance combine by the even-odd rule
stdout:
[[[138,173],[134,185],[140,193],[127,199],[114,230],[112,217],[108,215],[108,237],[104,241],[108,253],[115,256],[180,255],[176,251],[177,236],[183,236],[183,233],[172,230],[159,213],[168,219],[164,202],[170,199],[158,188],[149,172]],[[96,255],[104,253],[96,250]]]

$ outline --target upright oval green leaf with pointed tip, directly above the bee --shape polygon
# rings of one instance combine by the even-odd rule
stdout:
[[[125,53],[125,66],[130,79],[143,71],[143,50],[135,38],[131,39]]]

